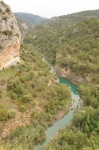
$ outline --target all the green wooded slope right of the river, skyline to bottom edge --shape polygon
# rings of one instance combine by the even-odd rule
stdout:
[[[45,149],[97,150],[99,148],[99,16],[83,15],[79,21],[74,19],[73,24],[67,21],[68,25],[63,23],[64,18],[67,19],[65,16],[53,18],[50,22],[37,26],[25,39],[26,43],[32,43],[50,63],[65,70],[69,68],[86,81],[79,84],[84,107],[79,112],[75,112],[72,124],[60,130]]]

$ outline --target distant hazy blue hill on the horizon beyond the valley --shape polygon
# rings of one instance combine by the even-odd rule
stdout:
[[[43,17],[29,13],[15,12],[14,15],[17,19],[22,20],[31,26],[37,25],[45,20]]]

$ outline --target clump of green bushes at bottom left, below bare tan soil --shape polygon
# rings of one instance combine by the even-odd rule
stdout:
[[[42,142],[45,138],[44,134],[44,128],[40,125],[37,126],[37,129],[35,129],[32,125],[28,126],[22,126],[17,128],[15,131],[13,131],[8,139],[10,142],[10,145],[7,144],[7,149],[15,149],[19,150],[20,148],[22,150],[29,149],[32,150],[34,146],[38,142]]]

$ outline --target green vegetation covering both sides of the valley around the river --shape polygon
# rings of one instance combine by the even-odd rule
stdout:
[[[0,148],[33,150],[45,140],[45,130],[68,112],[70,87],[57,82],[53,65],[84,78],[78,84],[83,107],[45,150],[98,150],[99,10],[54,17],[31,29],[20,59],[0,71]]]

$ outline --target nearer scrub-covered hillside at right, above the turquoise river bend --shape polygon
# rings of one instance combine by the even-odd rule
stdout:
[[[70,68],[84,78],[98,74],[99,21],[89,19],[69,28],[56,53],[56,65]]]

